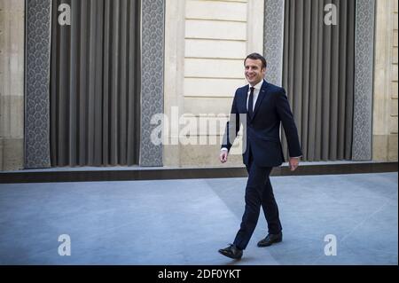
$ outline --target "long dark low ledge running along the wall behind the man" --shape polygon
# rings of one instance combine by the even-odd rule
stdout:
[[[316,164],[314,164],[316,163]],[[337,175],[397,172],[396,162],[304,162],[294,172],[284,164],[275,168],[271,176]],[[192,178],[247,177],[244,167],[207,168],[59,168],[0,172],[0,184],[99,182]]]

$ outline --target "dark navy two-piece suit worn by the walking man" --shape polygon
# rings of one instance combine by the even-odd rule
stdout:
[[[286,98],[286,91],[263,81],[251,117],[246,109],[248,90],[248,85],[236,90],[230,121],[227,122],[222,145],[230,151],[233,139],[237,136],[242,122],[240,120],[242,117],[246,117],[243,133],[246,147],[243,161],[248,171],[246,208],[239,232],[234,240],[234,245],[239,249],[246,248],[257,224],[261,206],[268,222],[269,232],[277,234],[282,230],[278,205],[269,178],[271,169],[284,162],[279,137],[280,123],[283,124],[286,133],[290,156],[298,157],[302,154],[298,131]]]

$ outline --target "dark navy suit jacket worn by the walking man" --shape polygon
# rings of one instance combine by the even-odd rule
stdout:
[[[239,132],[240,123],[246,117],[244,124],[246,151],[243,161],[249,165],[249,151],[252,150],[254,162],[262,167],[275,167],[284,162],[280,141],[280,122],[286,132],[289,154],[292,157],[301,156],[301,145],[298,131],[293,121],[293,114],[286,98],[286,90],[263,81],[259,91],[252,119],[246,109],[246,98],[249,86],[236,90],[231,106],[230,120],[224,132],[223,145],[229,151]],[[241,117],[241,118],[240,118]]]

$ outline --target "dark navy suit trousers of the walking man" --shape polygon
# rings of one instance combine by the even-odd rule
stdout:
[[[248,148],[250,151],[251,149]],[[278,216],[278,204],[274,198],[273,188],[270,184],[270,172],[272,167],[260,167],[254,163],[253,154],[250,153],[249,162],[246,165],[248,180],[246,183],[246,207],[239,232],[233,244],[239,249],[245,249],[254,233],[259,219],[261,206],[268,223],[271,234],[278,234],[282,227]]]

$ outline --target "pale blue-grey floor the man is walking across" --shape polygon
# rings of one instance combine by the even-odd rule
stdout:
[[[284,241],[219,255],[246,178],[0,185],[0,264],[397,264],[397,173],[271,177]],[[71,238],[60,256],[58,237]],[[337,255],[325,255],[325,235]]]

